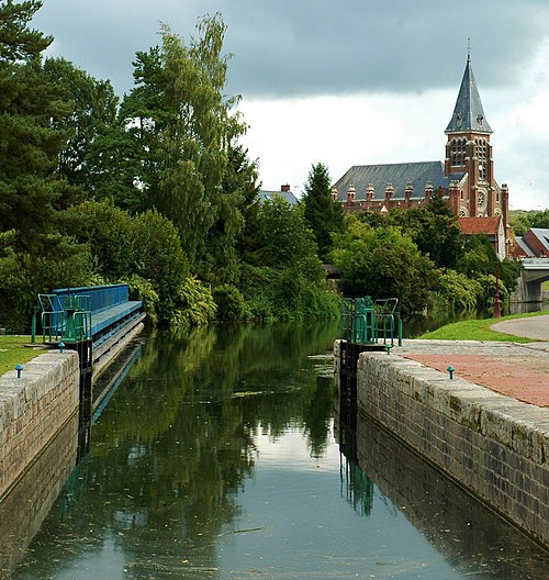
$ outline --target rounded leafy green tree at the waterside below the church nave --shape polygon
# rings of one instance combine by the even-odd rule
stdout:
[[[406,312],[427,305],[437,278],[433,261],[407,234],[391,225],[373,228],[349,220],[348,231],[336,235],[329,257],[341,270],[339,286],[345,295],[395,297]]]

